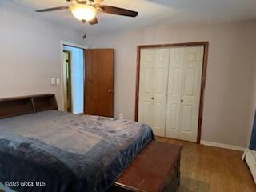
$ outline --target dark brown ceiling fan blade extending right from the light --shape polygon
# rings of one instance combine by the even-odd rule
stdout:
[[[126,10],[115,6],[99,6],[102,9],[102,12],[107,14],[118,14],[122,16],[128,16],[128,17],[136,17],[138,15],[138,12],[134,10]]]

